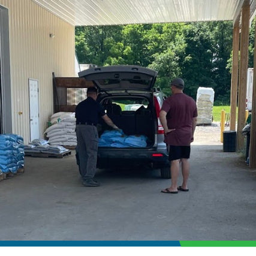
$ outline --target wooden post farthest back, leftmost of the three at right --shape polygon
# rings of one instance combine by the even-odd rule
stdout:
[[[239,64],[239,20],[233,27],[233,53],[232,53],[232,73],[231,73],[231,93],[230,93],[230,130],[236,131],[236,107],[237,107],[237,83]]]

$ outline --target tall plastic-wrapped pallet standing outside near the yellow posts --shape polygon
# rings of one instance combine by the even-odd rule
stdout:
[[[212,88],[199,87],[197,89],[197,125],[212,124],[213,102],[214,90]]]

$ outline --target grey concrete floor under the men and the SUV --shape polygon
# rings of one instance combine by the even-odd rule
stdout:
[[[74,157],[25,159],[0,182],[0,240],[256,240],[256,170],[222,145],[192,146],[189,192],[163,194],[159,170],[98,170]]]

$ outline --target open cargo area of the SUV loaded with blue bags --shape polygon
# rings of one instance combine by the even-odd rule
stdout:
[[[98,125],[100,143],[99,147],[152,147],[155,143],[155,119],[153,116],[153,106],[147,98],[143,97],[107,97],[100,102],[110,119],[122,129],[121,139],[117,138],[118,143],[101,144],[101,138],[106,137],[107,132],[115,131],[100,119]],[[120,134],[117,134],[120,135]],[[104,137],[104,138],[105,138]],[[125,142],[122,137],[127,138]],[[115,138],[113,138],[115,141]],[[144,143],[144,141],[145,143]],[[130,143],[128,143],[128,141]],[[139,142],[141,141],[141,143]],[[134,144],[133,144],[134,142]]]

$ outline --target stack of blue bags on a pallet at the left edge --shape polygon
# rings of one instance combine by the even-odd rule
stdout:
[[[24,167],[24,141],[20,135],[0,134],[0,172],[17,173]]]

